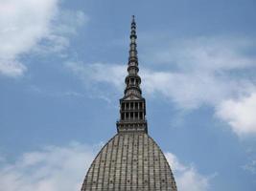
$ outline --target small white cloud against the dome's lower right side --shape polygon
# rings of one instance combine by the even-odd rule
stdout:
[[[203,176],[193,166],[182,164],[174,154],[165,154],[175,174],[175,181],[179,191],[206,191],[210,188],[212,176]]]

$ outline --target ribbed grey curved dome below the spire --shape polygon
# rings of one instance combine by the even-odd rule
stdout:
[[[172,170],[146,133],[119,133],[94,159],[81,191],[176,191]]]

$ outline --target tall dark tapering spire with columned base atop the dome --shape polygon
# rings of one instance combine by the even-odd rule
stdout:
[[[120,99],[120,119],[117,121],[117,131],[148,133],[146,120],[146,101],[141,95],[141,78],[138,75],[136,22],[132,16],[130,26],[130,44],[128,56],[128,75],[126,77],[125,95]]]

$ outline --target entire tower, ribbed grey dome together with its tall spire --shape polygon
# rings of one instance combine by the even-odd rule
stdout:
[[[163,152],[148,135],[146,101],[140,88],[136,23],[131,21],[126,89],[120,99],[117,134],[93,160],[81,191],[176,191]]]

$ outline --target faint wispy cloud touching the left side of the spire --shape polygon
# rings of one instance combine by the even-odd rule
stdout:
[[[113,96],[121,95],[124,90],[124,78],[127,73],[124,65],[67,62],[65,67],[81,79],[88,89],[87,96],[98,97],[110,103]]]

